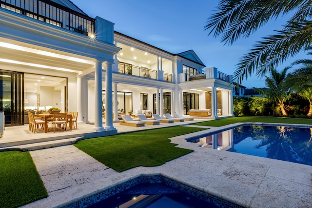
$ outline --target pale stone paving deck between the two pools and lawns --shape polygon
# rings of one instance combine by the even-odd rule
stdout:
[[[185,141],[192,136],[194,133],[171,140],[194,152],[162,166],[140,166],[121,173],[72,145],[30,151],[49,196],[23,207],[62,207],[149,174],[161,174],[243,207],[312,207],[312,166],[199,147]]]

